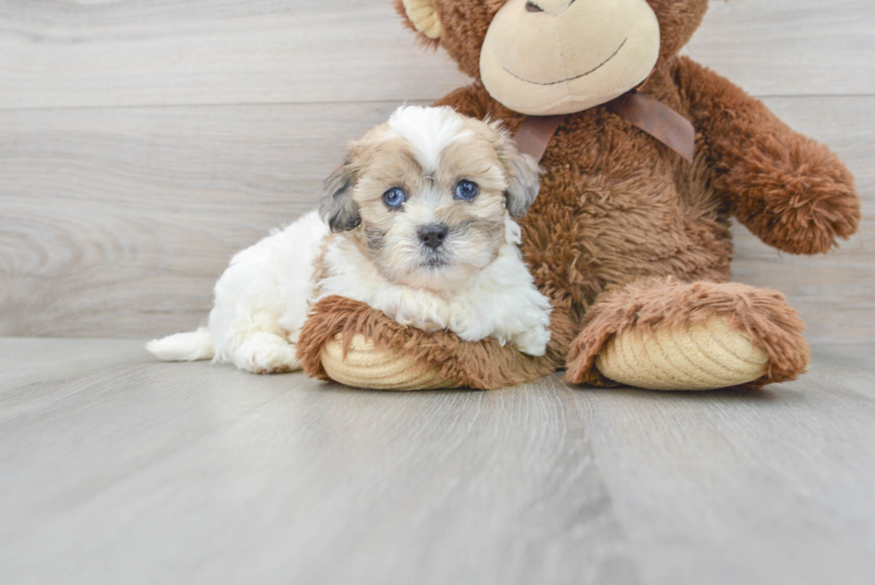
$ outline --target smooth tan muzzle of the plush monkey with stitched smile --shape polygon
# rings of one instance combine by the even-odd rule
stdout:
[[[659,57],[646,0],[510,0],[489,25],[480,79],[520,113],[572,113],[644,81]]]

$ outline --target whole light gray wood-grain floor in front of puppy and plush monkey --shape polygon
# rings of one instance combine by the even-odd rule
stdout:
[[[872,582],[873,352],[754,392],[390,393],[0,339],[0,581]]]

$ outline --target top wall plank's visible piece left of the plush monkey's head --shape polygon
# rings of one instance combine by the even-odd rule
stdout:
[[[428,99],[468,80],[390,0],[0,3],[0,108]]]

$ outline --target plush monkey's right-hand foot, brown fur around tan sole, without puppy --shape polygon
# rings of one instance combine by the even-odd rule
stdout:
[[[775,291],[676,280],[629,285],[591,307],[566,380],[654,390],[793,380],[808,364],[803,329]]]

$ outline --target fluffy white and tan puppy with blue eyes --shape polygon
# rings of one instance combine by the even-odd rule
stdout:
[[[340,295],[404,325],[491,335],[543,355],[551,307],[512,219],[537,191],[537,163],[497,124],[447,107],[399,108],[350,146],[318,213],[234,256],[208,327],[146,348],[162,360],[296,370],[309,307]]]

